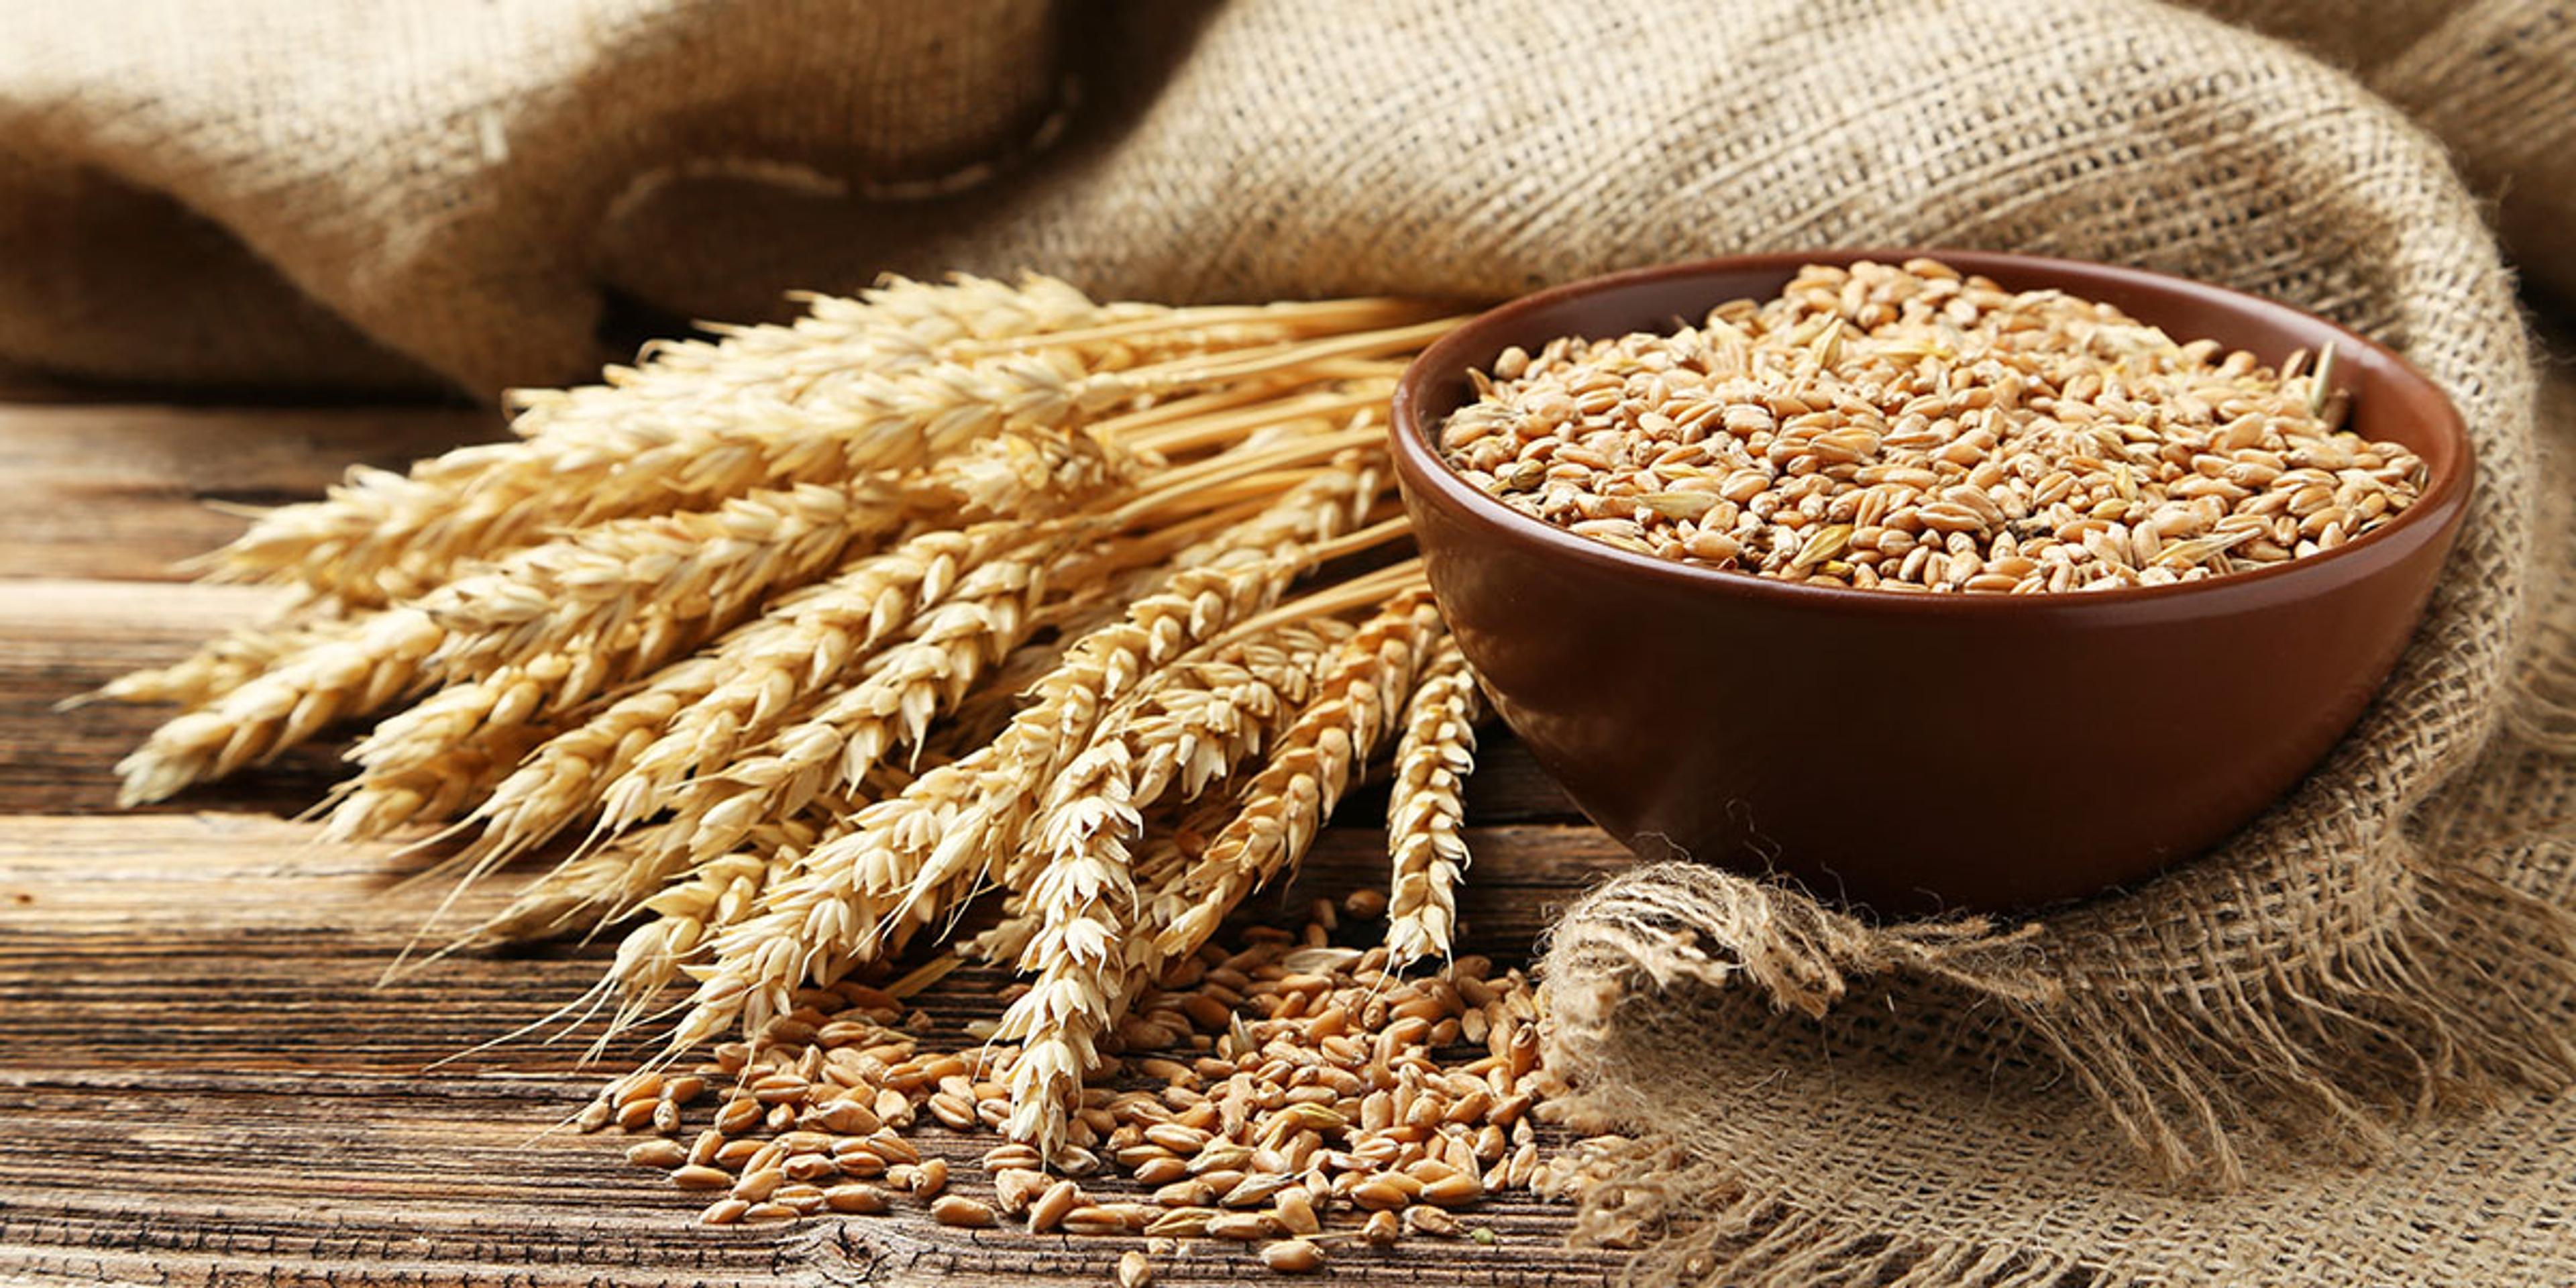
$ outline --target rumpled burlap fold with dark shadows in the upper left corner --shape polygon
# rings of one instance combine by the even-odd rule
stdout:
[[[8,5],[0,355],[191,384],[572,381],[608,355],[618,229],[665,188],[969,188],[1054,129],[1064,49],[1056,0]],[[716,281],[747,250],[683,227],[631,258]]]

